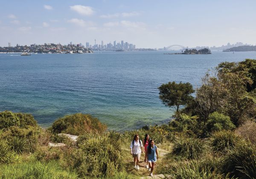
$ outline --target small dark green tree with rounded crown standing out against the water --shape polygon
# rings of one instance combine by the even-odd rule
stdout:
[[[189,82],[169,82],[162,84],[158,89],[159,98],[163,101],[163,104],[169,107],[175,106],[177,113],[179,112],[180,105],[186,105],[193,99],[191,94],[195,92]]]

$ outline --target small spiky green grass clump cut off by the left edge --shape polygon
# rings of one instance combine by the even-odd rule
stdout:
[[[0,164],[10,163],[15,159],[15,153],[11,151],[11,148],[6,144],[6,141],[0,140]]]

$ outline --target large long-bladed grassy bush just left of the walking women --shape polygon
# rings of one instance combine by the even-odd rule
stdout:
[[[113,131],[79,136],[78,149],[64,158],[64,166],[75,169],[82,177],[114,176],[124,169],[121,140]]]

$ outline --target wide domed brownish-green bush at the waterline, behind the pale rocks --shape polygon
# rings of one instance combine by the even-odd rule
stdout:
[[[107,126],[90,114],[77,113],[57,119],[53,122],[51,129],[53,133],[82,135],[87,132],[102,133]]]

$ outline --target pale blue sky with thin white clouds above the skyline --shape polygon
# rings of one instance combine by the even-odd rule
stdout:
[[[256,0],[0,0],[0,46],[256,44]]]

